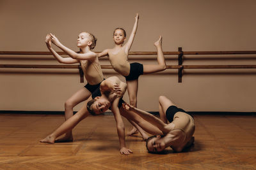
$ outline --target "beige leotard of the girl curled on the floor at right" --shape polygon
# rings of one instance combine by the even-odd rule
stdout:
[[[195,132],[195,122],[193,117],[191,117],[187,113],[179,111],[173,116],[172,123],[175,124],[175,127],[174,129],[172,129],[172,131],[176,129],[180,129],[181,131],[183,131],[185,133],[184,142],[187,143]]]

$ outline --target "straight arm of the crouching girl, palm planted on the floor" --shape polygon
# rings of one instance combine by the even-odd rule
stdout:
[[[117,129],[117,134],[119,138],[119,143],[120,143],[120,153],[129,155],[132,153],[131,150],[126,148],[125,146],[125,128],[124,128],[124,122],[122,120],[122,117],[120,115],[120,111],[118,108],[118,102],[120,100],[120,97],[117,97],[115,101],[111,104],[111,111],[114,114],[115,120],[116,120],[116,129]]]

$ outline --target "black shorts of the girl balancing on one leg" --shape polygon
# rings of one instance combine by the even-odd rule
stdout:
[[[125,76],[125,80],[136,80],[141,74],[143,74],[143,64],[140,64],[138,62],[132,62],[130,64],[130,73],[128,76]]]

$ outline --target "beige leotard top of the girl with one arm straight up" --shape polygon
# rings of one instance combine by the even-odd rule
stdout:
[[[115,71],[122,76],[128,76],[130,73],[130,63],[128,62],[128,55],[125,53],[125,48],[122,47],[116,54],[108,53],[109,61]]]

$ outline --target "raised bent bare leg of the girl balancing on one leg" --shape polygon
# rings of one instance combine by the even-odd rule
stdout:
[[[156,73],[166,69],[166,63],[162,50],[162,36],[154,43],[157,48],[157,62],[155,65],[143,65],[143,74]]]

